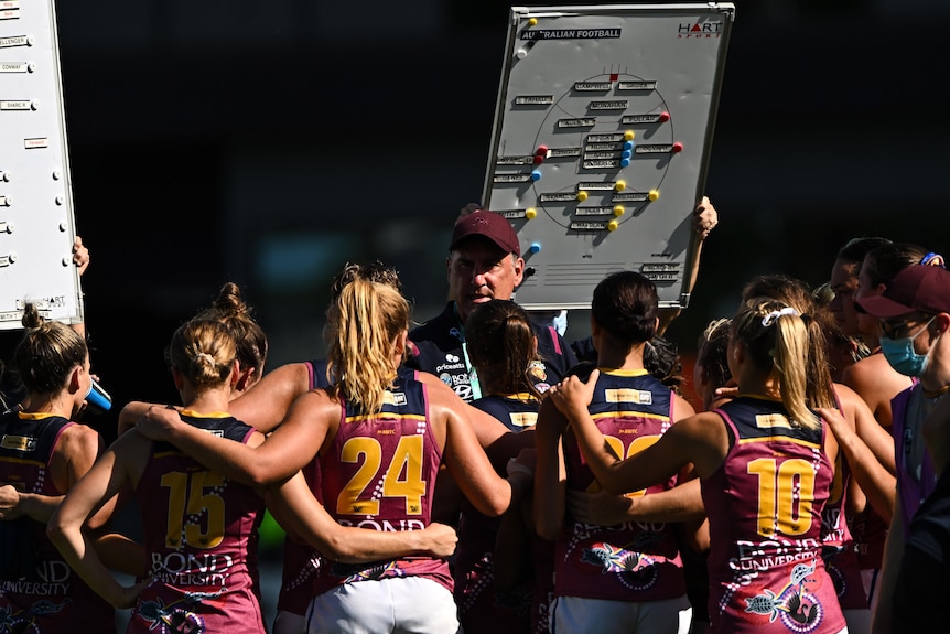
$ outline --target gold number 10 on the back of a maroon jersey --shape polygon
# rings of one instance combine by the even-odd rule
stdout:
[[[748,473],[758,476],[758,534],[774,537],[803,535],[811,528],[814,499],[814,468],[802,459],[784,461],[776,468],[773,458],[748,463]]]

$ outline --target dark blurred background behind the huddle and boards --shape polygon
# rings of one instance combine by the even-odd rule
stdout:
[[[529,3],[530,4],[530,3]],[[736,1],[705,192],[720,226],[684,353],[751,276],[827,280],[849,238],[947,250],[950,9]],[[269,367],[323,354],[330,277],[399,268],[445,297],[458,208],[483,186],[509,4],[100,0],[58,8],[93,369],[117,404],[176,401],[162,351],[237,281]],[[569,337],[586,334],[572,314]]]

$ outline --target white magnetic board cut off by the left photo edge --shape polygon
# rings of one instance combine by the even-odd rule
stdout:
[[[52,0],[0,0],[0,329],[83,321]]]

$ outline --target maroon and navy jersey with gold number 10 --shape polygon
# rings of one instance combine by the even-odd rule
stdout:
[[[714,411],[732,442],[702,482],[711,631],[840,632],[844,616],[820,557],[834,476],[824,425],[792,425],[781,402],[765,397],[740,396]]]

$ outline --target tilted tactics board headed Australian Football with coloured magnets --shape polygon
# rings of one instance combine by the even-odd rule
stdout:
[[[483,206],[518,232],[527,309],[615,270],[689,303],[732,3],[511,9]]]

